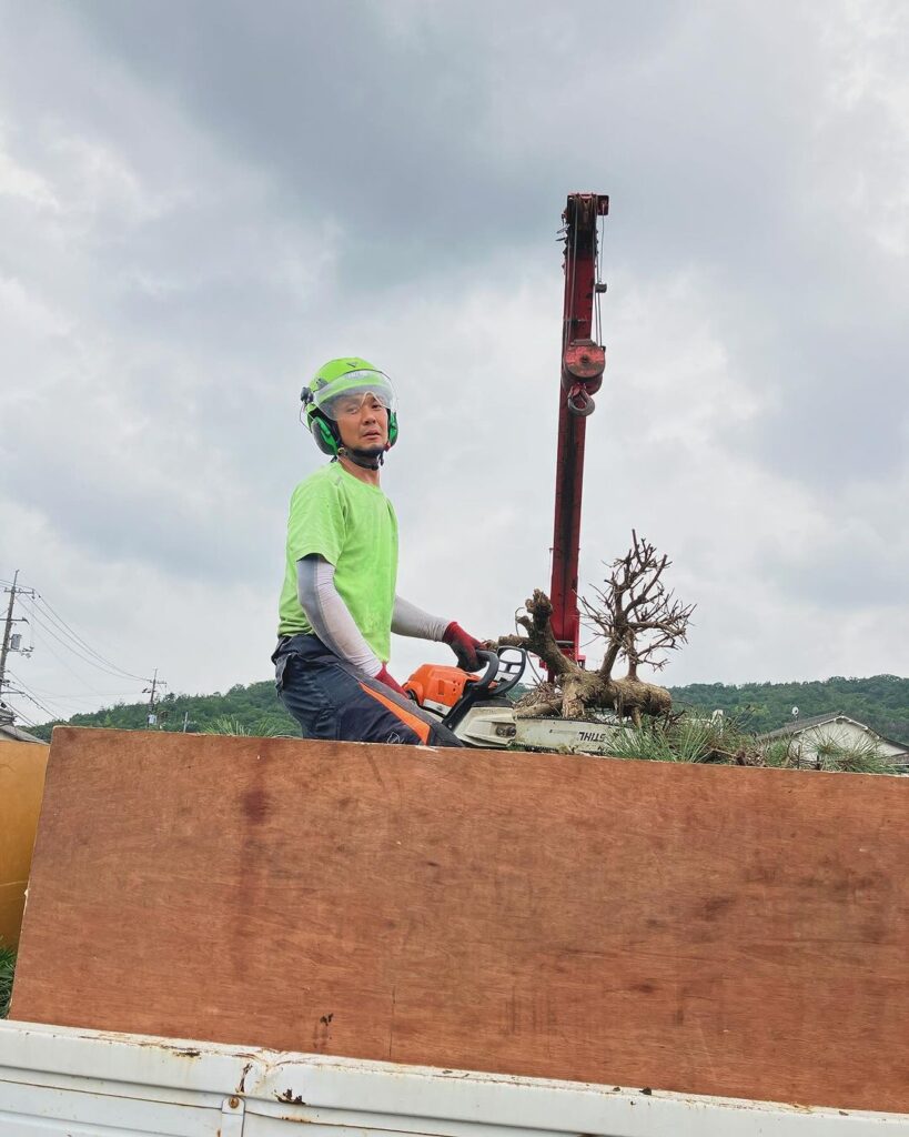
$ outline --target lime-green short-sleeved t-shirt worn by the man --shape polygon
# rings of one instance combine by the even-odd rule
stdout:
[[[311,553],[334,565],[334,584],[362,638],[382,663],[391,655],[398,578],[398,518],[377,485],[332,462],[291,497],[287,559],[278,605],[278,636],[311,632],[297,599],[297,562]]]

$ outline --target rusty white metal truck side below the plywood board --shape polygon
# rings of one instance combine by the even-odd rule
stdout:
[[[0,1022],[0,1137],[280,1137],[294,1123],[310,1137],[909,1135],[907,1114]]]

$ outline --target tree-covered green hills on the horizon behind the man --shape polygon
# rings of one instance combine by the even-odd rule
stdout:
[[[909,745],[909,679],[873,675],[870,679],[833,679],[808,683],[690,683],[670,687],[678,708],[724,711],[741,720],[743,729],[760,733],[792,721],[792,708],[800,717],[840,712],[867,723],[894,742]],[[298,736],[297,723],[275,696],[270,680],[237,683],[225,694],[166,695],[158,704],[158,725],[162,730],[199,732],[218,729],[233,720],[250,735]],[[76,714],[34,728],[33,733],[49,739],[51,729],[67,722],[73,727],[109,727],[118,730],[147,730],[148,705],[117,704],[93,714]]]

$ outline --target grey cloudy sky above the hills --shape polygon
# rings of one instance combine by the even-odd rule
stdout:
[[[582,591],[634,526],[698,605],[666,682],[909,674],[901,0],[7,0],[19,681],[72,713],[143,686],[90,649],[175,691],[269,674],[324,460],[299,391],[343,354],[399,390],[400,592],[510,631],[549,583],[573,190],[611,199]]]

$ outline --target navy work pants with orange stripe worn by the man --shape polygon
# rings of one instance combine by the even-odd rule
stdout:
[[[278,697],[303,738],[464,745],[411,699],[340,659],[316,636],[285,636],[272,659]]]

